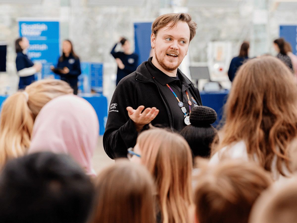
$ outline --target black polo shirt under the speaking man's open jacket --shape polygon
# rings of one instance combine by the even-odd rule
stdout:
[[[184,77],[177,72],[176,77],[170,77],[167,74],[163,73],[161,70],[159,70],[153,63],[151,62],[152,57],[149,58],[146,68],[149,70],[149,73],[154,77],[153,80],[159,87],[161,95],[167,99],[169,103],[169,108],[172,111],[173,114],[173,126],[177,131],[181,131],[186,124],[184,123],[184,112],[181,111],[181,107],[178,106],[178,100],[174,96],[174,94],[171,92],[169,87],[167,87],[166,84],[168,84],[171,89],[174,91],[178,99],[183,102],[184,107],[186,108],[189,116],[189,104],[188,104],[188,97],[186,94],[186,90],[189,88],[189,85],[185,83]],[[194,106],[196,103],[192,99],[192,95],[189,91],[187,91],[189,94],[189,99],[192,103],[192,106]],[[158,108],[157,108],[158,109]]]

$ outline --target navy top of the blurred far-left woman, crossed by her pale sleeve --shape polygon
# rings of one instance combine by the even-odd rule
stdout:
[[[23,52],[18,52],[17,57],[15,59],[15,65],[17,67],[17,71],[23,70],[24,68],[33,67],[34,63],[29,59],[27,54]],[[20,77],[19,81],[19,89],[24,89],[26,86],[35,81],[34,74],[27,77]]]

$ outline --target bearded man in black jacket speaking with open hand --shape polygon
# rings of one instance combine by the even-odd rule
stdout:
[[[178,69],[197,24],[187,13],[159,16],[152,24],[154,56],[123,78],[111,99],[103,147],[110,158],[127,157],[149,123],[181,131],[191,107],[202,105],[199,91]],[[130,148],[128,152],[135,154]]]

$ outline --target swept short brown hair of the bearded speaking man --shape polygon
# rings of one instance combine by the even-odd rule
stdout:
[[[153,25],[151,26],[151,32],[157,35],[157,32],[163,27],[167,26],[169,23],[169,29],[176,26],[177,22],[186,22],[190,28],[190,41],[196,35],[197,24],[192,21],[192,17],[188,13],[169,13],[165,15],[160,15],[155,19]]]

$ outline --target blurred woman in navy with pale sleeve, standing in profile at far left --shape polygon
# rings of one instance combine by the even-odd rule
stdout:
[[[15,59],[15,65],[20,76],[18,89],[25,89],[35,81],[34,74],[39,72],[42,68],[41,64],[35,64],[29,59],[26,54],[26,50],[29,48],[29,41],[26,37],[20,37],[15,40],[15,52],[17,57]]]

